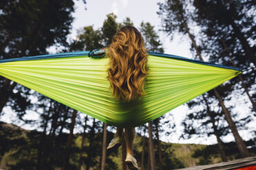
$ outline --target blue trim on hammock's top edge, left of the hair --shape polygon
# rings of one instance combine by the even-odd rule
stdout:
[[[26,61],[26,60],[42,60],[49,58],[68,58],[68,57],[76,57],[76,56],[88,56],[89,51],[78,51],[71,53],[56,53],[56,54],[48,54],[42,56],[32,56],[32,57],[23,57],[23,58],[11,58],[0,60],[2,62],[17,62],[17,61]]]

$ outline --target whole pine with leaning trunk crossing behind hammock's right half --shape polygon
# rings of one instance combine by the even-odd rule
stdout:
[[[167,0],[166,3],[158,4],[160,5],[160,12],[158,12],[158,14],[162,17],[162,21],[164,24],[164,32],[167,32],[167,34],[173,34],[173,32],[178,31],[182,34],[187,34],[191,39],[191,44],[193,45],[193,48],[198,54],[198,57],[200,58],[200,60],[203,61],[201,51],[195,42],[195,36],[191,34],[191,30],[189,29],[188,26],[189,14],[187,14],[186,10],[184,10],[184,5],[186,5],[185,2],[182,0]],[[213,91],[215,93],[215,97],[218,99],[220,103],[220,106],[222,106],[222,110],[224,112],[226,121],[228,122],[231,132],[235,137],[235,141],[237,143],[237,147],[239,148],[241,156],[249,156],[248,149],[246,148],[244,141],[242,140],[241,136],[237,131],[237,127],[233,122],[231,113],[224,105],[224,101],[220,94],[218,93],[217,89],[214,88]]]

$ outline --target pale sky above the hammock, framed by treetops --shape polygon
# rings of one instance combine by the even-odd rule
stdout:
[[[107,19],[107,14],[114,12],[117,22],[122,22],[129,17],[135,27],[140,27],[140,23],[149,22],[154,25],[156,30],[161,29],[161,20],[156,12],[158,11],[157,3],[161,1],[147,0],[108,0],[108,1],[76,1],[76,12],[74,13],[75,21],[73,23],[72,38],[76,37],[76,30],[85,26],[94,25],[94,29],[102,27],[103,22]],[[163,2],[163,1],[162,1]],[[85,6],[87,10],[85,10]],[[171,53],[176,56],[189,58],[189,41],[186,36],[177,36],[173,41],[164,34],[160,34],[160,40],[164,44],[165,53]]]

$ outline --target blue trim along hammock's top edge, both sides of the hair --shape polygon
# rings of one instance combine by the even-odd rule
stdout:
[[[147,53],[149,53],[149,55],[151,55],[151,56],[160,56],[160,57],[165,57],[165,58],[173,58],[173,59],[176,59],[176,60],[183,60],[183,61],[186,61],[186,62],[194,62],[194,63],[204,64],[204,65],[209,65],[209,66],[217,66],[217,67],[224,68],[224,69],[233,69],[233,70],[237,70],[237,71],[242,71],[242,70],[234,68],[232,66],[222,66],[222,65],[219,65],[219,64],[211,63],[211,62],[203,62],[203,61],[200,61],[200,60],[192,60],[192,59],[189,59],[189,58],[174,56],[174,55],[167,54],[167,53],[157,53],[157,52],[150,52],[150,51],[148,51]],[[4,59],[4,60],[0,60],[0,63],[25,61],[25,60],[42,60],[42,59],[49,59],[49,58],[67,58],[67,57],[76,57],[76,56],[88,56],[88,54],[89,54],[89,51],[78,51],[78,52],[71,52],[71,53],[56,53],[56,54],[49,54],[49,55],[43,55],[43,56],[32,56],[32,57],[23,57],[23,58]]]

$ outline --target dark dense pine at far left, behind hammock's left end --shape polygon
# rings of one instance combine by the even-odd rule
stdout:
[[[67,46],[66,38],[70,34],[74,12],[72,0],[1,1],[0,11],[0,58],[45,54],[47,47],[56,43]],[[8,99],[15,101],[10,97],[14,96],[16,85],[1,78],[0,112]],[[22,88],[19,88],[18,93],[21,93]],[[19,101],[16,104],[19,105]]]

